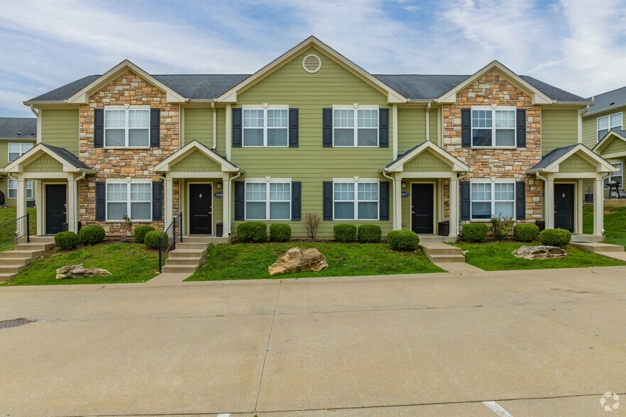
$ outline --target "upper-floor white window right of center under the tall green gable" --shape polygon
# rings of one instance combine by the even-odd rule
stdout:
[[[333,146],[377,147],[378,106],[334,106]]]

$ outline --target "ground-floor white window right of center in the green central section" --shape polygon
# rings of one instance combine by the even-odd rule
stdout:
[[[378,220],[378,180],[336,179],[333,183],[335,220]]]

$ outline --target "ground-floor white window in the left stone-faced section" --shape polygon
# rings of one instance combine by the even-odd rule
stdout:
[[[152,220],[152,182],[106,182],[106,220]]]

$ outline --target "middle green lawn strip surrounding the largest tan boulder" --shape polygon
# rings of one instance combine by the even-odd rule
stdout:
[[[317,248],[326,256],[328,269],[277,275],[275,278],[443,272],[422,252],[395,252],[383,243],[236,243],[211,246],[202,267],[187,281],[271,278],[268,267],[295,247]]]

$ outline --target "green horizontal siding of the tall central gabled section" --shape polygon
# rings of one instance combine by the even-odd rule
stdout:
[[[309,53],[316,53],[322,59],[322,68],[314,74],[309,74],[302,68],[302,58]],[[378,173],[378,169],[392,160],[391,143],[389,148],[322,148],[322,109],[353,103],[390,108],[386,94],[366,84],[322,52],[307,50],[250,89],[238,94],[237,106],[263,103],[286,104],[300,110],[300,147],[233,148],[233,162],[246,170],[246,174],[240,178],[242,181],[266,176],[301,181],[302,217],[309,211],[322,216],[324,181],[355,176],[388,181]],[[391,125],[390,110],[390,142]],[[348,222],[357,225],[377,223],[383,228],[383,235],[392,228],[391,221]],[[236,233],[238,223],[234,222],[233,233]],[[304,237],[302,222],[287,223],[292,227],[294,237]],[[346,221],[322,221],[319,237],[331,237],[336,223]]]

